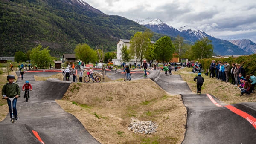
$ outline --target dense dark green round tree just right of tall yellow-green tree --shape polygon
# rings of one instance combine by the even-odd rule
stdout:
[[[172,54],[175,47],[170,37],[163,36],[154,44],[155,58],[159,61],[166,62],[172,60]]]

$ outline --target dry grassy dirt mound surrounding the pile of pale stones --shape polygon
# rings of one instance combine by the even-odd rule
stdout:
[[[168,95],[151,79],[72,83],[63,99],[68,101],[58,104],[102,144],[183,141],[186,108],[181,96]],[[135,121],[154,121],[159,127],[153,135],[135,134],[128,130]]]

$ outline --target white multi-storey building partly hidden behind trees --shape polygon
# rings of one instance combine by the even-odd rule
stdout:
[[[122,60],[122,48],[124,46],[127,46],[127,49],[130,48],[130,41],[131,40],[125,40],[125,39],[120,39],[118,42],[117,42],[117,59],[112,59],[113,63],[116,64],[116,65],[120,65],[121,64],[121,60]],[[151,41],[151,44],[154,44],[155,42],[154,41]],[[134,64],[134,62],[139,62],[140,60],[139,59],[131,59],[130,62],[132,64]],[[129,64],[129,62],[126,63],[127,65]]]

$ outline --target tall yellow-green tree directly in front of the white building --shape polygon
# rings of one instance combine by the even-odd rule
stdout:
[[[139,59],[140,64],[142,64],[144,53],[151,43],[151,37],[153,37],[153,33],[149,29],[146,29],[143,33],[136,32],[134,36],[131,36],[130,54],[131,56],[135,56],[136,59]]]

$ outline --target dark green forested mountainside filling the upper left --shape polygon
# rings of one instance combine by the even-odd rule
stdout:
[[[106,15],[76,0],[1,0],[0,56],[38,46],[49,46],[52,56],[74,53],[75,46],[87,43],[108,51],[119,39],[130,39],[146,28],[124,17]],[[159,35],[154,35],[157,40]]]

